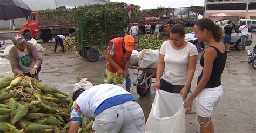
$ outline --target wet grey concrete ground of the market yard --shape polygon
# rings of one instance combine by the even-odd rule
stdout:
[[[246,49],[253,49],[256,44],[256,35],[253,35],[253,45]],[[105,71],[105,56],[101,56],[97,62],[89,62],[75,52],[53,53],[53,41],[44,43],[38,40],[45,48],[42,54],[43,64],[39,75],[43,83],[51,87],[72,94],[73,84],[79,82],[81,77],[87,77],[93,85],[103,83]],[[192,82],[191,91],[196,86],[197,76],[200,75],[201,66],[199,53],[196,73]],[[0,74],[9,76],[12,74],[9,60],[0,58]],[[133,82],[133,70],[130,69]],[[232,49],[228,53],[227,63],[222,75],[224,89],[223,98],[215,107],[212,121],[215,132],[255,132],[255,89],[256,70],[251,64],[247,64],[247,53]],[[0,79],[1,80],[1,79]],[[153,84],[151,85],[153,86]],[[131,88],[131,93],[139,100],[145,117],[149,115],[151,104],[154,100],[155,91],[151,87],[151,93],[145,97],[140,97],[136,92],[136,87]],[[195,105],[195,104],[194,104]],[[193,106],[195,111],[195,106]],[[186,132],[199,132],[200,128],[195,121],[195,114],[186,115]]]

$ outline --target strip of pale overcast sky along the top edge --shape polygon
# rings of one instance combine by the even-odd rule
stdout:
[[[111,2],[125,2],[129,4],[139,5],[140,9],[153,9],[158,6],[165,8],[179,8],[193,6],[204,6],[204,0],[110,0]]]

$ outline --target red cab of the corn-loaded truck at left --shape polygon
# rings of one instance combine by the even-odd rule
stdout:
[[[26,23],[22,25],[22,29],[19,31],[19,34],[24,35],[24,38],[28,41],[31,38],[39,39],[39,33],[38,12],[31,12]]]

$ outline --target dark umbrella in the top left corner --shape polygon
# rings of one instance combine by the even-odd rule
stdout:
[[[21,0],[0,0],[0,20],[28,17],[31,9]]]

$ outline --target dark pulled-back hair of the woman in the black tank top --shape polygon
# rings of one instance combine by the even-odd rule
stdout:
[[[203,18],[196,22],[196,24],[200,30],[206,29],[207,31],[210,31],[213,35],[213,38],[220,42],[220,39],[222,37],[222,28],[218,25],[215,25],[214,22],[211,19]]]

